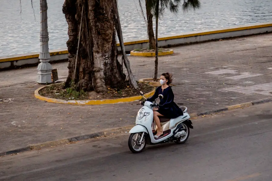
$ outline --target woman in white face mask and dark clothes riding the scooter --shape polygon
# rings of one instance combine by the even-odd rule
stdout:
[[[172,119],[183,115],[183,111],[174,102],[174,93],[171,86],[169,86],[169,84],[172,82],[171,78],[172,75],[169,73],[162,74],[160,76],[161,86],[156,89],[155,94],[151,98],[147,99],[147,101],[153,102],[159,96],[159,94],[164,96],[163,99],[160,99],[161,106],[153,109],[154,121],[158,127],[158,132],[154,136],[155,139],[159,138],[163,134],[160,125],[160,118],[158,116],[164,116],[168,119]]]

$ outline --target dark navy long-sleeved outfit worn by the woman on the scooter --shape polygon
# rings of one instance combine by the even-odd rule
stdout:
[[[154,100],[159,97],[159,94],[162,94],[164,98],[160,99],[160,105],[162,106],[159,106],[159,110],[157,110],[158,113],[169,119],[183,115],[183,111],[174,102],[174,93],[171,86],[164,90],[162,90],[161,86],[158,87],[155,94],[151,98],[148,98],[147,101],[154,102]]]

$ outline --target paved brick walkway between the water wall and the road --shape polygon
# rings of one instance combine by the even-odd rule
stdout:
[[[174,74],[175,102],[189,113],[272,96],[271,33],[173,49],[174,55],[159,57],[159,72]],[[154,58],[129,59],[137,79],[152,77]],[[52,66],[64,81],[67,63]],[[135,102],[75,106],[37,100],[36,67],[1,71],[0,77],[0,99],[10,98],[0,101],[0,152],[131,125],[140,108]]]

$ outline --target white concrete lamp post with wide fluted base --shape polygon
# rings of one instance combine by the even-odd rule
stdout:
[[[40,0],[40,63],[38,65],[38,80],[40,84],[51,83],[52,66],[49,63],[50,53],[48,48],[47,30],[47,0]]]

